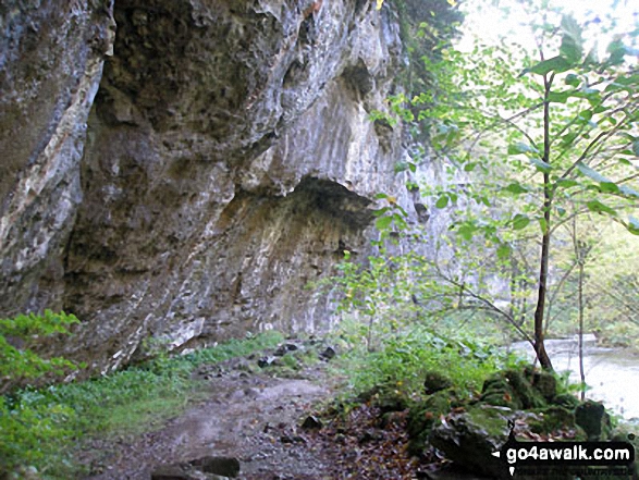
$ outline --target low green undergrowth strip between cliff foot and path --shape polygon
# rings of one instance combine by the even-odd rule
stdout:
[[[278,332],[232,340],[181,357],[146,364],[84,382],[25,389],[0,396],[0,478],[65,479],[82,473],[74,451],[83,440],[150,431],[200,397],[191,373],[204,364],[271,348]]]

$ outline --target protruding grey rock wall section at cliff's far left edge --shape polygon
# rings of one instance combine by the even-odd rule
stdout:
[[[60,308],[108,1],[0,3],[0,315]]]

